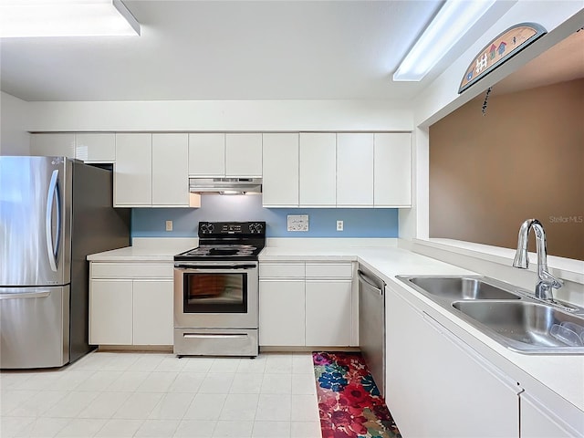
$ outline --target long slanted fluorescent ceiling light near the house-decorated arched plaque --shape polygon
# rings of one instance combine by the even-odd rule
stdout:
[[[422,80],[494,4],[495,0],[446,0],[393,73],[393,80]]]

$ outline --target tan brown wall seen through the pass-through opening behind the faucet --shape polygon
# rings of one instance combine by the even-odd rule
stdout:
[[[535,217],[584,260],[584,79],[484,99],[430,128],[430,236],[516,248]]]

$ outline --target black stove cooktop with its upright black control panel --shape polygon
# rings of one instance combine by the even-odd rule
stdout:
[[[199,246],[174,260],[257,260],[265,245],[265,222],[200,222]]]

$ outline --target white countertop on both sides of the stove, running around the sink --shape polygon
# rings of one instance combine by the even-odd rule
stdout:
[[[193,239],[182,239],[182,242],[179,242],[179,240],[177,239],[171,245],[168,243],[156,245],[155,242],[144,245],[141,242],[141,245],[89,255],[88,259],[94,262],[170,262],[172,261],[173,255],[193,247]],[[297,241],[297,239],[290,240]],[[495,353],[495,359],[498,360],[495,360],[497,365],[503,365],[506,372],[513,372],[513,366],[527,372],[537,382],[556,392],[565,401],[578,408],[579,411],[584,412],[584,356],[527,355],[506,349],[495,342],[495,340],[485,336],[480,330],[464,322],[464,320],[456,318],[431,299],[422,296],[422,294],[419,294],[411,287],[407,287],[395,279],[397,275],[464,275],[474,274],[473,272],[398,248],[396,247],[395,241],[391,241],[391,239],[388,239],[387,245],[359,246],[358,244],[359,242],[353,242],[350,246],[338,246],[318,242],[318,245],[301,245],[299,242],[295,242],[294,245],[287,247],[282,245],[282,241],[278,241],[276,242],[276,246],[269,246],[268,243],[268,246],[260,254],[259,259],[260,262],[358,261],[381,276],[392,287],[401,287],[402,290],[410,292],[414,297],[422,300],[428,307],[433,308],[435,313],[440,314],[443,318],[450,321],[452,323],[451,326],[454,325],[459,328],[458,334],[463,333],[467,338],[466,341],[469,341],[469,343],[472,342],[475,346],[482,349],[487,347],[486,350],[489,358]],[[471,335],[470,338],[468,337],[469,334]],[[505,367],[506,363],[512,364],[513,366]]]

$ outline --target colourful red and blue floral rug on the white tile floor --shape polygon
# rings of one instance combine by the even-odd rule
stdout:
[[[401,438],[360,353],[313,352],[322,438]]]

